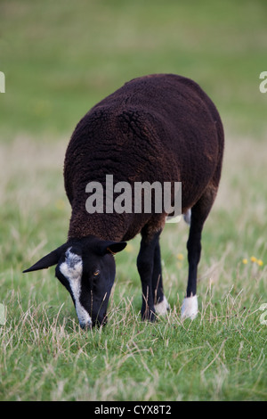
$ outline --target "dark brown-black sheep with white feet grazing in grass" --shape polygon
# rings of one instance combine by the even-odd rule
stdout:
[[[104,187],[107,175],[113,176],[114,184],[127,182],[133,187],[145,181],[182,182],[182,214],[190,214],[189,278],[182,317],[193,319],[198,312],[201,232],[217,193],[222,161],[222,121],[198,84],[172,74],[126,83],[86,113],[71,136],[64,164],[72,208],[68,242],[24,272],[57,264],[56,276],[70,292],[80,325],[101,325],[106,322],[115,279],[113,255],[141,233],[137,267],[142,319],[155,320],[157,313],[169,308],[159,248],[166,210],[117,213],[108,211],[106,202],[101,211],[89,213],[86,187],[92,182]]]

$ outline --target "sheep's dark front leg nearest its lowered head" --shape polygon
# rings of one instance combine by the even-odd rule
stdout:
[[[153,287],[153,269],[155,248],[160,232],[149,238],[146,229],[142,230],[142,241],[137,258],[137,268],[142,282],[142,320],[155,321],[155,285]]]

